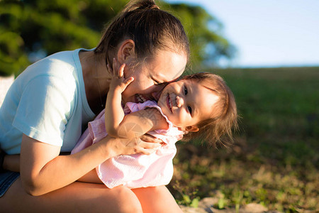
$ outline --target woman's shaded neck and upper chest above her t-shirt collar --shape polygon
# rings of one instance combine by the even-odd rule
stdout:
[[[89,107],[95,114],[105,107],[106,95],[108,93],[110,76],[101,55],[93,51],[79,53],[82,65],[83,80],[86,99]]]

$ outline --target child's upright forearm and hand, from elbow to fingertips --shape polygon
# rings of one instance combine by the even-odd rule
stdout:
[[[127,80],[123,77],[125,64],[118,68],[118,62],[113,60],[113,69],[108,65],[108,71],[111,72],[111,83],[108,89],[108,96],[105,106],[105,129],[108,135],[118,138],[118,128],[124,119],[124,111],[121,106],[122,92],[133,82],[133,77]],[[116,71],[114,71],[116,70]]]

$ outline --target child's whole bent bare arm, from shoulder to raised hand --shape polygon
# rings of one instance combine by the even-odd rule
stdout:
[[[133,82],[133,77],[124,80],[123,70],[125,65],[118,67],[118,62],[113,60],[113,70],[110,89],[106,99],[105,126],[108,135],[115,138],[133,139],[154,129],[167,129],[168,124],[162,114],[155,108],[148,108],[125,116],[121,107],[122,92]],[[118,70],[117,72],[114,70]]]

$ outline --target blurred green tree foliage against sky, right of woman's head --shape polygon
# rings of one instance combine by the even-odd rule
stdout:
[[[233,58],[235,46],[220,34],[223,24],[201,6],[164,4],[181,20],[190,42],[191,64],[217,66],[220,58]]]

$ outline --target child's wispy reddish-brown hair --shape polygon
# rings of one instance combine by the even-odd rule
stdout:
[[[211,118],[200,121],[196,125],[199,131],[185,134],[183,141],[201,138],[209,145],[216,146],[218,142],[223,146],[229,145],[230,141],[233,141],[233,130],[237,129],[237,107],[233,92],[222,77],[209,72],[186,75],[182,79],[196,81],[218,96],[218,100],[212,106]]]

